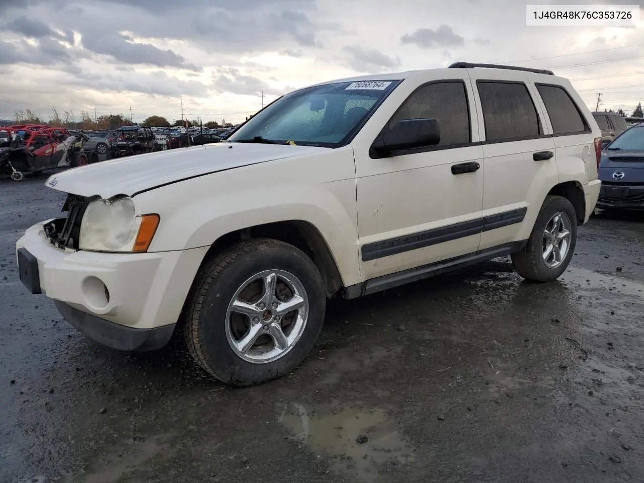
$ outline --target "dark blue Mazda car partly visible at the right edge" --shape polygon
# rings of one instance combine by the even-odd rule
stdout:
[[[601,151],[601,209],[644,210],[644,123],[631,126]]]

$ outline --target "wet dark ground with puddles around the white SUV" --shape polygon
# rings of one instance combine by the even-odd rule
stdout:
[[[44,179],[0,182],[0,481],[644,479],[644,216],[592,218],[554,283],[502,258],[334,301],[303,365],[230,389],[26,292],[15,240],[64,200]]]

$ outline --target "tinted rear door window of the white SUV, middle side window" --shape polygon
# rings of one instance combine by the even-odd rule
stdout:
[[[498,141],[542,134],[535,104],[525,84],[477,82],[486,140]]]

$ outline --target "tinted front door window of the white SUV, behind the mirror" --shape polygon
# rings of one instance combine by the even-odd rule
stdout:
[[[405,100],[389,121],[388,128],[405,119],[434,118],[439,123],[437,146],[470,141],[468,96],[462,82],[437,82],[421,87]]]

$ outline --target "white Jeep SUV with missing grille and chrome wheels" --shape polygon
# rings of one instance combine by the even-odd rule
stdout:
[[[65,218],[17,242],[24,284],[104,345],[181,330],[225,383],[287,374],[327,298],[510,254],[558,278],[594,209],[601,133],[550,71],[466,64],[324,82],[226,142],[52,176]]]

